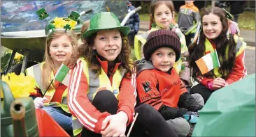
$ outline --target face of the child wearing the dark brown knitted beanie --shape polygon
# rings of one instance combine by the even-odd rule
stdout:
[[[176,53],[169,47],[161,47],[151,55],[151,60],[157,70],[167,72],[175,63]]]

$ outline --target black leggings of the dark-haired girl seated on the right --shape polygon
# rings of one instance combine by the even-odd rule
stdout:
[[[194,93],[199,93],[204,98],[204,104],[206,104],[208,98],[211,96],[211,93],[213,93],[213,90],[210,90],[206,86],[199,83],[190,89],[190,94]]]

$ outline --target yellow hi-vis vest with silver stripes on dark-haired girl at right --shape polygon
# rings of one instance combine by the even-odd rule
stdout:
[[[236,57],[237,57],[237,56],[239,56],[242,53],[242,51],[244,51],[244,49],[246,49],[246,42],[243,42],[237,35],[234,35],[234,40],[236,42],[235,50],[236,50]],[[211,45],[211,42],[209,42],[208,39],[206,39],[205,48],[206,48],[205,52],[214,51],[213,46]],[[227,54],[228,51],[229,51],[229,47],[227,47],[227,49],[226,49],[226,56],[228,56],[228,54]],[[219,59],[221,60],[222,58],[219,57]],[[214,72],[216,77],[221,77],[222,76],[218,72],[219,68],[220,67],[216,67],[213,70],[213,72]]]

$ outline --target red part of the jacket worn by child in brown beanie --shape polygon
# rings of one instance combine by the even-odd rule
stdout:
[[[170,74],[156,69],[141,71],[136,79],[141,104],[150,104],[159,110],[163,104],[178,107],[180,95],[187,92],[175,69]]]

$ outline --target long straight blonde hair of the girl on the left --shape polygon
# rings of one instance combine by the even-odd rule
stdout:
[[[68,63],[69,68],[73,68],[76,63],[76,61],[73,61],[75,60],[75,58],[72,57],[75,55],[76,49],[77,49],[77,40],[76,40],[75,33],[73,33],[73,31],[54,31],[50,33],[50,35],[48,35],[48,37],[45,40],[45,55],[43,57],[43,60],[45,61],[45,63],[43,64],[42,81],[43,81],[43,88],[45,89],[48,88],[50,81],[52,80],[52,77],[51,77],[52,71],[54,70],[56,71],[55,65],[52,61],[52,58],[50,57],[50,48],[49,48],[50,43],[52,42],[52,40],[62,37],[62,35],[67,35],[69,37],[69,40],[71,40],[71,45],[73,47],[71,60]],[[54,82],[52,83],[49,89],[53,89],[53,88],[55,88]]]

